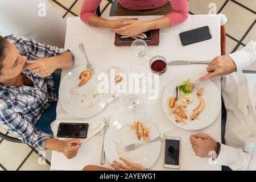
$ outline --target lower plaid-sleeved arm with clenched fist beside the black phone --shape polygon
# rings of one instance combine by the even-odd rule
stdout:
[[[1,125],[3,125],[9,133],[15,135],[22,140],[23,143],[27,143],[31,147],[63,152],[68,159],[71,159],[77,155],[77,151],[81,146],[81,141],[77,139],[63,142],[51,138],[48,134],[36,129],[23,115],[15,113],[13,109],[2,110],[0,117]]]

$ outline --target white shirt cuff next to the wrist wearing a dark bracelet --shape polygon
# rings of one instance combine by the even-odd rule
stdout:
[[[223,166],[232,166],[232,164],[236,160],[236,156],[237,151],[235,148],[226,146],[225,144],[221,144],[221,151],[220,154],[218,154],[216,163]]]

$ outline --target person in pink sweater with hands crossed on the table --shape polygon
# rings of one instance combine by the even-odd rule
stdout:
[[[122,38],[146,38],[143,32],[157,28],[173,27],[188,18],[187,0],[119,0],[115,15],[165,15],[142,22],[138,18],[107,20],[95,14],[102,0],[84,0],[80,18],[93,27],[109,28]],[[118,0],[115,0],[118,1]]]

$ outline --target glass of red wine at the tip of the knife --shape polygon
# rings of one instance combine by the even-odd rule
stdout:
[[[150,69],[159,75],[159,82],[164,82],[168,78],[167,61],[163,56],[154,56],[150,60]]]

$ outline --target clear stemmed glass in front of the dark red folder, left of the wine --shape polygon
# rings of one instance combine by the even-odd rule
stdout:
[[[136,60],[139,64],[146,64],[149,61],[150,56],[148,55],[147,51],[147,43],[144,40],[134,40],[134,42],[131,44],[131,48],[133,49],[136,55]]]

